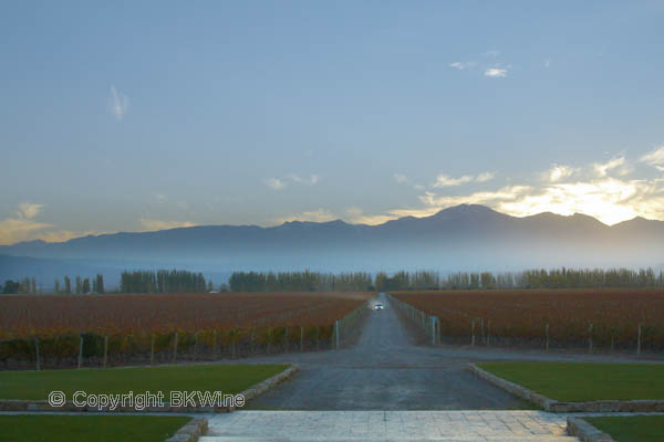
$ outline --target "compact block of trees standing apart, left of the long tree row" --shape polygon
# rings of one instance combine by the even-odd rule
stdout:
[[[208,290],[203,273],[184,270],[123,272],[122,293],[203,293]]]

